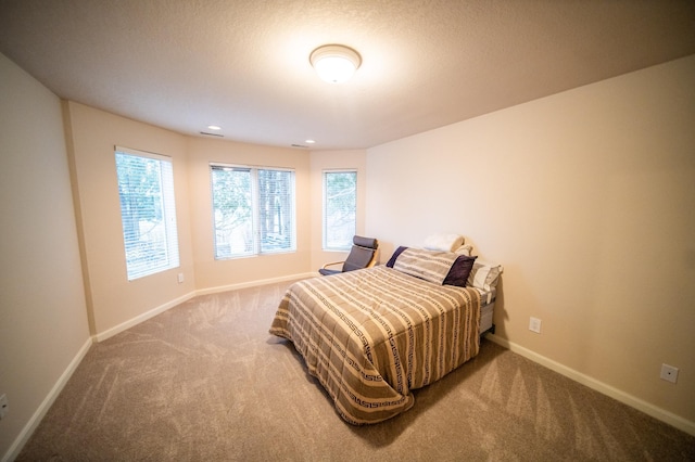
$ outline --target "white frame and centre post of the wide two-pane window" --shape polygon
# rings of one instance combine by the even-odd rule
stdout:
[[[215,180],[214,170],[228,170],[237,169],[240,171],[249,171],[250,175],[250,217],[251,220],[251,249],[242,253],[229,252],[228,255],[223,255],[218,247],[218,229],[215,205]],[[289,172],[290,188],[288,194],[289,210],[285,210],[289,214],[289,227],[290,235],[288,236],[289,243],[285,247],[280,248],[264,248],[264,235],[262,235],[261,227],[261,171],[281,171]],[[296,252],[296,172],[294,168],[287,167],[269,167],[269,166],[255,166],[255,165],[242,165],[242,164],[226,164],[226,163],[210,163],[210,188],[211,188],[211,205],[212,205],[212,230],[213,230],[213,256],[215,260],[230,260],[237,258],[256,257],[262,255],[277,255],[289,254]],[[269,234],[269,233],[268,233]]]

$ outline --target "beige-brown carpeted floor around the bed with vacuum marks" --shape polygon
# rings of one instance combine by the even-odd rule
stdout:
[[[351,426],[268,334],[287,285],[200,296],[93,345],[17,460],[695,460],[695,437],[488,341],[406,413]]]

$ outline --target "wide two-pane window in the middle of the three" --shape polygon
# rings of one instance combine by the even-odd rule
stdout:
[[[211,165],[215,258],[294,252],[294,171]]]

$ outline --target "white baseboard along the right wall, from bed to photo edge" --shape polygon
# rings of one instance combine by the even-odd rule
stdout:
[[[538,362],[541,365],[548,368],[552,371],[555,371],[559,374],[565,375],[573,380],[574,382],[579,382],[582,385],[586,385],[587,387],[595,389],[598,393],[602,393],[606,396],[609,396],[623,405],[628,405],[634,409],[637,409],[644,412],[647,415],[653,416],[661,422],[665,422],[669,425],[674,426],[675,428],[687,433],[688,435],[695,436],[695,422],[691,422],[686,419],[681,418],[680,415],[675,415],[672,412],[669,412],[665,409],[656,407],[647,401],[644,401],[640,398],[636,398],[630,394],[619,390],[610,385],[607,385],[603,382],[599,382],[589,375],[585,375],[579,371],[568,368],[567,365],[560,364],[557,361],[553,361],[549,358],[541,356],[528,348],[525,348],[520,345],[517,345],[513,342],[507,341],[506,338],[502,338],[495,334],[486,334],[485,338],[494,342],[495,344],[503,346],[510,351],[514,351],[518,355],[523,356],[525,358],[530,359],[533,362]]]

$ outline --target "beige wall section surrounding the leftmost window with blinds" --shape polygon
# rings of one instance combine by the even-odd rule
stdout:
[[[108,336],[138,317],[194,293],[186,137],[93,107],[65,107],[78,200],[83,268],[92,334]],[[135,281],[126,274],[114,146],[172,157],[180,268]],[[182,272],[184,283],[177,275]]]

